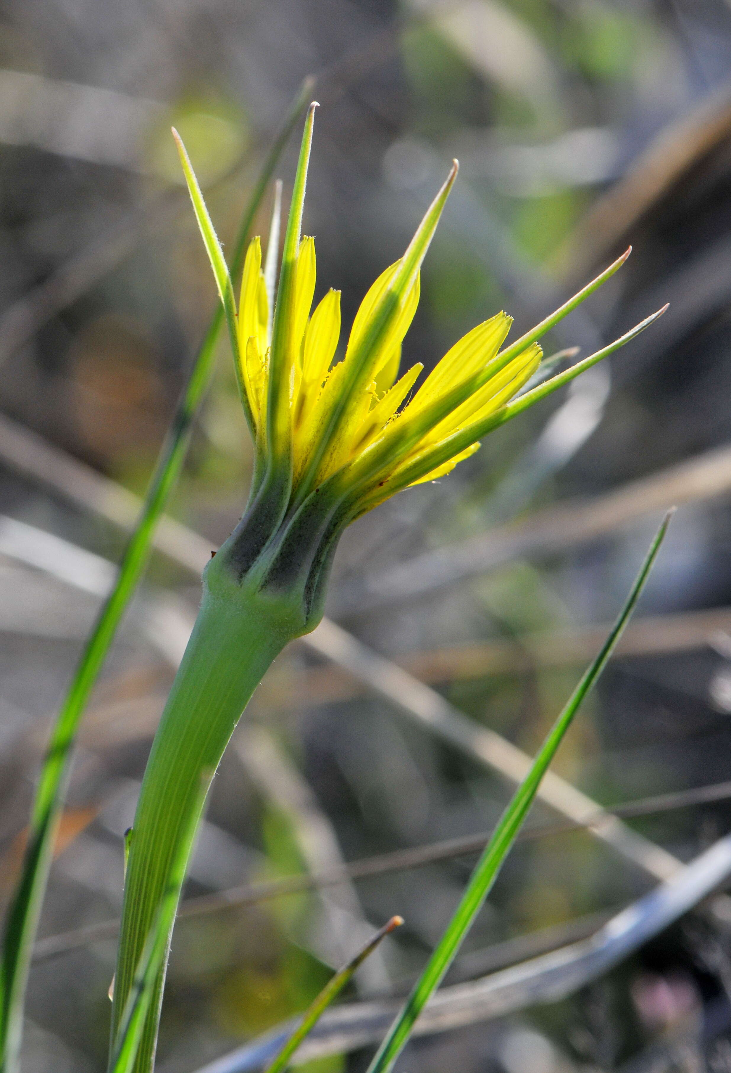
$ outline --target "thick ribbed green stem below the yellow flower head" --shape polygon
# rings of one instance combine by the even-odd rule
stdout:
[[[181,849],[187,857],[192,848],[202,809],[202,775],[215,771],[249,697],[290,640],[290,632],[269,611],[266,599],[253,588],[239,589],[235,599],[205,589],[137,803],[122,907],[113,1043],[135,967],[170,890],[174,863]],[[172,925],[169,943],[171,934]],[[166,960],[165,954],[134,1065],[137,1073],[152,1068]]]

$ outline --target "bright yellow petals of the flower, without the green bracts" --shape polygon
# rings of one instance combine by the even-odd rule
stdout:
[[[310,317],[316,284],[315,240],[303,238],[296,259],[294,300],[291,310],[291,411],[294,483],[304,472],[319,442],[322,429],[341,397],[351,365],[359,361],[367,343],[374,320],[382,308],[398,262],[383,271],[366,294],[353,321],[345,357],[333,365],[340,334],[340,293],[328,291]],[[254,238],[249,247],[242,281],[238,312],[242,381],[254,414],[258,435],[264,424],[266,371],[269,339],[268,310],[261,269],[261,246]],[[482,420],[499,409],[532,376],[540,363],[541,349],[533,343],[516,357],[502,363],[500,346],[510,329],[511,318],[498,313],[472,328],[452,347],[425,379],[415,396],[407,401],[420,373],[412,366],[398,381],[398,362],[404,336],[419,302],[419,275],[398,303],[388,330],[368,355],[372,379],[350,399],[338,435],[322,458],[317,472],[321,484],[378,445],[393,444],[385,468],[396,472],[444,441],[457,427]],[[379,305],[380,304],[380,305]],[[406,405],[405,405],[406,403]],[[449,473],[477,451],[472,444],[449,462],[426,472],[413,484]]]

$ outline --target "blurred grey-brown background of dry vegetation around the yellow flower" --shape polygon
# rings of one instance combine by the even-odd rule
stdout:
[[[342,289],[346,323],[407,245],[450,160],[460,161],[405,362],[428,368],[500,308],[528,327],[629,242],[627,266],[546,351],[576,344],[585,356],[671,303],[627,350],[452,475],[356,524],[338,553],[332,616],[430,684],[457,716],[530,752],[598,645],[594,628],[618,609],[662,508],[678,502],[635,632],[557,770],[606,806],[731,778],[728,0],[5,0],[5,899],[48,720],[108,585],[102,560],[123,546],[123,528],[104,517],[114,514],[112,484],[85,485],[92,474],[83,467],[144,490],[214,309],[171,123],[230,245],[309,74],[321,107],[305,231],[317,236],[317,293]],[[294,142],[278,170],[286,193]],[[269,206],[267,196],[257,233]],[[171,508],[211,548],[242,511],[250,460],[222,344]],[[45,939],[119,911],[121,834],[199,591],[170,555],[155,557],[148,578],[89,711]],[[479,833],[509,785],[347,668],[293,646],[224,759],[188,896]],[[556,818],[535,811],[535,823]],[[721,795],[632,826],[688,862],[730,821]],[[404,994],[472,859],[181,922],[160,1069],[195,1070],[301,1010],[392,913],[406,925],[349,998]],[[539,951],[582,934],[578,921],[589,934],[656,881],[587,833],[518,846],[451,982],[520,960],[516,937],[542,936]],[[101,1069],[114,940],[82,936],[53,957],[53,944],[42,946],[24,1073]],[[731,1069],[730,981],[719,914],[689,914],[566,1000],[476,1014],[414,1044],[399,1068],[718,1073]],[[306,1069],[363,1070],[369,1053]]]

